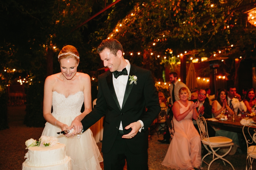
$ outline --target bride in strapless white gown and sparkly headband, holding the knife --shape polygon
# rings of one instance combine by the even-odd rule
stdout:
[[[62,48],[58,56],[60,73],[48,76],[44,83],[44,118],[47,121],[42,135],[55,136],[66,144],[72,170],[98,170],[103,159],[90,129],[81,134],[81,120],[91,112],[91,79],[88,74],[76,72],[79,54],[74,46]],[[84,103],[84,112],[81,107]],[[51,109],[53,107],[53,112]],[[73,133],[57,132],[74,129]],[[75,134],[80,135],[75,136]]]

